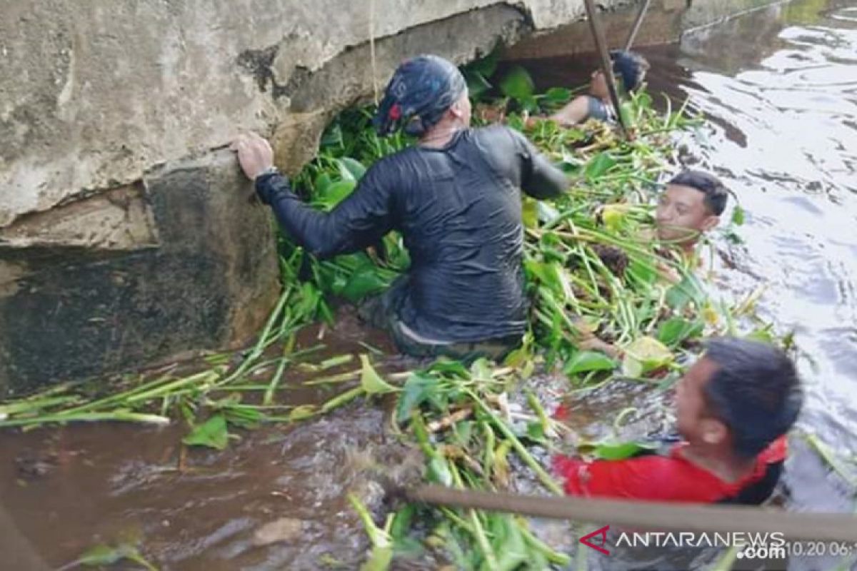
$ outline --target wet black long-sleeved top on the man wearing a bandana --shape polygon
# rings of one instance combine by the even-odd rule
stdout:
[[[319,258],[363,250],[399,230],[411,256],[399,318],[444,342],[524,333],[520,189],[544,199],[566,187],[561,170],[501,126],[381,159],[329,213],[304,204],[284,176],[256,181],[285,232]]]

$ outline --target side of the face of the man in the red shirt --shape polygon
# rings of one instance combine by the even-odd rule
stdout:
[[[676,425],[689,443],[716,446],[728,437],[726,425],[712,416],[705,401],[704,386],[716,371],[716,363],[703,357],[687,370],[676,387]]]

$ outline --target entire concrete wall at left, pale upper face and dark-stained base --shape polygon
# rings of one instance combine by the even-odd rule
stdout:
[[[583,14],[582,0],[5,0],[0,395],[252,336],[278,283],[270,217],[224,150],[241,129],[297,171],[403,57],[465,62]]]

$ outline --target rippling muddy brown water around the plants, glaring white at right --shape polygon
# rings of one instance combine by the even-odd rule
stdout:
[[[808,398],[800,428],[854,460],[857,5],[776,5],[691,33],[680,45],[641,51],[652,63],[650,91],[689,97],[712,120],[680,141],[682,155],[688,164],[721,175],[746,209],[741,244],[715,238],[730,260],[719,268],[720,283],[736,294],[767,285],[761,312],[781,330],[794,330],[801,350]],[[529,66],[539,86],[577,86],[592,62]],[[318,342],[316,333],[305,336],[303,346]],[[390,350],[373,335],[348,314],[327,332],[323,354],[365,352],[361,340]],[[387,362],[392,368],[409,365],[398,358]],[[561,379],[533,384],[555,404]],[[294,390],[289,398],[325,396]],[[668,395],[641,385],[611,384],[578,395],[569,404],[570,422],[603,436],[615,414],[629,406],[639,412],[628,418],[624,435],[668,430]],[[383,509],[381,490],[362,467],[368,459],[391,467],[411,461],[385,431],[387,421],[383,406],[351,406],[292,427],[241,432],[225,452],[195,449],[186,455],[179,425],[2,432],[0,569],[57,568],[93,544],[128,537],[139,538],[143,553],[162,569],[357,568],[368,541],[344,491],[357,491],[372,509]],[[785,477],[790,508],[854,511],[854,490],[800,438],[792,443]],[[277,520],[280,541],[260,544],[262,526]],[[548,537],[571,537],[565,526],[538,522],[537,528]],[[653,557],[649,568],[705,568],[711,559]],[[614,553],[590,556],[589,563],[632,568],[640,558]],[[790,568],[836,564],[804,559]],[[437,566],[426,559],[399,565]]]

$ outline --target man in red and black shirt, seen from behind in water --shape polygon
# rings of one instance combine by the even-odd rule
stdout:
[[[684,442],[664,455],[586,462],[554,458],[572,496],[662,502],[764,502],[786,457],[803,402],[794,364],[761,342],[720,338],[681,378],[675,396]]]

